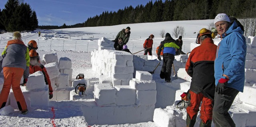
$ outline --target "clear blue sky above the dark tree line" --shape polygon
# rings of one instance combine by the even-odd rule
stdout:
[[[8,0],[0,0],[1,10]],[[74,25],[103,11],[118,11],[125,6],[146,5],[150,0],[23,0],[36,11],[38,25]],[[153,3],[155,0],[152,0]],[[163,0],[164,1],[164,0]]]

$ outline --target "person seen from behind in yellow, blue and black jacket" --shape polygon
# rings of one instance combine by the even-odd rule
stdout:
[[[172,64],[174,61],[174,55],[176,52],[175,48],[180,48],[176,45],[175,40],[171,37],[170,33],[166,33],[164,41],[161,41],[157,58],[161,61],[160,53],[162,50],[164,53],[164,60],[162,65],[162,70],[160,72],[160,78],[165,79],[166,82],[171,82],[171,74],[172,74]]]

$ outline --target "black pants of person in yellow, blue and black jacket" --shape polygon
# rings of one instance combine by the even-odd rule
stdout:
[[[171,80],[172,64],[174,61],[174,55],[170,53],[164,53],[162,70],[160,72],[160,78],[167,81]]]

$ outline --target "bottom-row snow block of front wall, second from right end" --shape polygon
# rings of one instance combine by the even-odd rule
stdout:
[[[141,107],[137,105],[115,106],[114,124],[140,123],[140,112]]]

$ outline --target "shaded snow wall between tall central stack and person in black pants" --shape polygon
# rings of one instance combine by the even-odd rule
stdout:
[[[156,68],[157,64],[158,67]],[[160,74],[160,70],[162,68],[162,61],[158,61],[156,56],[150,56],[150,55],[134,55],[133,56],[133,66],[134,66],[134,72],[133,72],[133,77],[135,78],[135,73],[136,70],[141,70],[141,71],[148,71],[148,72],[153,72],[155,74]]]

